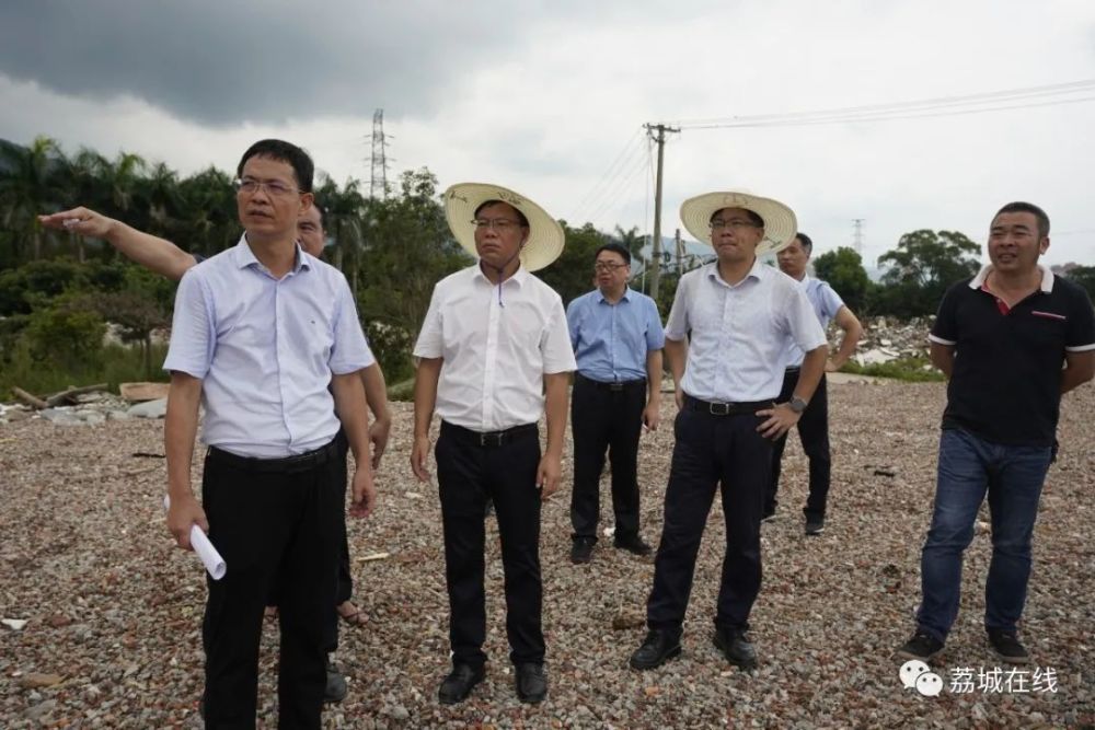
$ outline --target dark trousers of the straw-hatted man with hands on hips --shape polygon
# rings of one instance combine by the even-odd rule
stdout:
[[[677,415],[665,524],[646,604],[652,629],[681,628],[700,540],[719,486],[726,554],[715,626],[748,628],[760,591],[760,520],[772,463],[772,442],[757,432],[761,420],[751,414],[714,416],[689,409]]]

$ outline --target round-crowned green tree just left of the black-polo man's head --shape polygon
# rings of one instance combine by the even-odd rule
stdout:
[[[900,317],[933,314],[947,288],[973,276],[981,247],[957,231],[906,233],[878,257],[886,270],[873,311]]]

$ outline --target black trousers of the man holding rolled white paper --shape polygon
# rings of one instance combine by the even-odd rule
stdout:
[[[346,461],[266,471],[255,460],[210,450],[201,499],[210,540],[228,564],[209,579],[203,624],[207,728],[254,728],[263,610],[279,593],[278,726],[319,728],[326,683],[338,522]]]

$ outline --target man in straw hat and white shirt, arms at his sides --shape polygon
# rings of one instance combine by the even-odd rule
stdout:
[[[563,251],[563,229],[540,206],[498,185],[445,193],[449,229],[479,260],[437,283],[414,355],[411,467],[423,482],[434,412],[434,455],[445,532],[452,671],[438,690],[462,702],[484,676],[484,508],[494,502],[506,572],[506,633],[517,696],[548,695],[541,628],[540,502],[558,487],[568,373],[575,369],[560,296],[531,271]],[[541,455],[538,422],[548,416]]]

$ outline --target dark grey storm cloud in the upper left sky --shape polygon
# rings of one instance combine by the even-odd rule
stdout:
[[[534,19],[514,8],[15,0],[0,4],[0,73],[83,99],[128,94],[205,125],[422,113],[492,59],[519,54]]]

